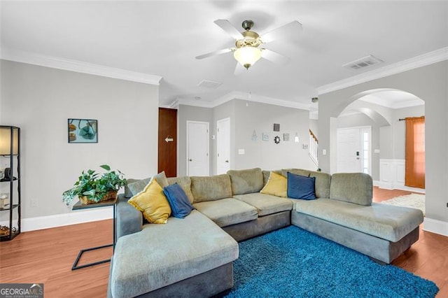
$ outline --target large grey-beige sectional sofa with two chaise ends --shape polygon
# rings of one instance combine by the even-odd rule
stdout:
[[[314,177],[316,199],[260,192],[272,185],[272,172]],[[417,209],[372,203],[372,178],[364,173],[246,169],[209,177],[155,178],[162,187],[181,185],[195,210],[183,219],[170,217],[165,225],[148,224],[127,200],[149,178],[130,183],[117,205],[118,241],[108,297],[216,295],[233,286],[237,241],[291,224],[390,263],[419,239],[423,222]]]

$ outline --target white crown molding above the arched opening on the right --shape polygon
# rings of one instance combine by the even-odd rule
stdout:
[[[344,80],[338,80],[337,82],[317,87],[318,94],[325,94],[328,92],[341,90],[346,87],[351,87],[361,83],[368,82],[370,80],[376,80],[377,78],[384,78],[396,73],[402,73],[403,71],[410,71],[417,69],[421,66],[434,64],[448,59],[448,47],[434,50],[433,52],[427,52],[426,54],[419,55],[410,59],[403,60],[394,64],[361,73],[357,76],[345,78]]]

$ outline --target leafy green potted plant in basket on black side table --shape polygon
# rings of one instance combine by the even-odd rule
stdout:
[[[85,205],[115,198],[118,190],[126,184],[124,174],[119,170],[118,173],[111,171],[111,167],[107,164],[100,167],[107,172],[100,174],[90,169],[87,172],[82,171],[74,186],[62,193],[62,201],[69,205],[75,197],[78,197],[81,204]]]

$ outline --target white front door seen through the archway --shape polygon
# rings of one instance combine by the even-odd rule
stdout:
[[[371,173],[370,127],[337,129],[337,172]]]

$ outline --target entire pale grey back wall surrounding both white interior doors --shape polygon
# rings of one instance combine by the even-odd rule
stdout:
[[[262,104],[255,101],[232,99],[215,108],[198,108],[194,106],[179,106],[179,172],[186,174],[185,148],[186,129],[182,125],[187,120],[211,121],[210,136],[216,135],[216,122],[230,118],[230,168],[248,169],[281,169],[299,167],[309,169],[308,150],[303,144],[309,143],[308,111],[297,108],[285,108],[272,104]],[[212,117],[210,118],[210,115]],[[210,120],[211,119],[211,120]],[[280,124],[280,132],[273,132],[274,123]],[[258,136],[252,141],[253,130]],[[269,141],[262,141],[262,132],[269,134]],[[300,136],[300,143],[294,142],[295,133]],[[283,133],[290,134],[290,141],[283,141]],[[274,136],[280,136],[281,142],[276,145]],[[244,149],[245,154],[239,155],[238,149]],[[216,139],[210,139],[211,175],[216,174]],[[316,169],[312,169],[316,170]]]

